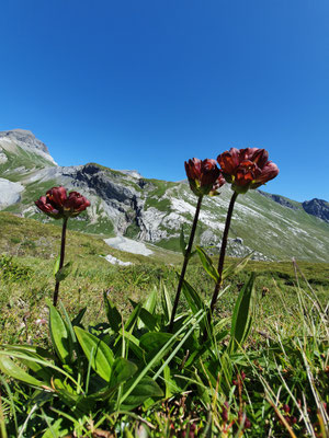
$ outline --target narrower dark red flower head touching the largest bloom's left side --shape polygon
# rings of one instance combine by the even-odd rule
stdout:
[[[225,184],[215,160],[197,158],[185,161],[185,171],[190,187],[196,196],[217,195],[216,189]]]

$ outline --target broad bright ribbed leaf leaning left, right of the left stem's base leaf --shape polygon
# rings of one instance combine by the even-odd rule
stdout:
[[[79,344],[92,369],[106,382],[110,382],[114,356],[110,347],[86,330],[75,327]],[[91,355],[92,353],[92,355]]]

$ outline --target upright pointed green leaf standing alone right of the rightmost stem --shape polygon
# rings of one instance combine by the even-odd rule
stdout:
[[[239,345],[243,344],[251,328],[254,278],[256,274],[251,273],[249,280],[240,290],[232,312],[230,330],[231,338],[228,346],[230,353],[234,353]]]

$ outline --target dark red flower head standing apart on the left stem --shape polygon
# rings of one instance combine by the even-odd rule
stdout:
[[[90,201],[78,192],[70,192],[64,187],[53,187],[46,196],[35,201],[36,207],[54,219],[72,218],[90,206]]]

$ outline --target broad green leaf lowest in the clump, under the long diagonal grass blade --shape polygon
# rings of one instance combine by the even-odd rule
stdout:
[[[124,390],[126,391],[129,388],[129,385],[131,382],[128,384],[125,384]],[[163,396],[163,392],[157,382],[155,382],[150,377],[146,376],[139,381],[139,383],[133,389],[129,395],[125,399],[124,406],[122,407],[125,410],[132,410],[144,403],[145,400],[155,396],[161,397]]]

